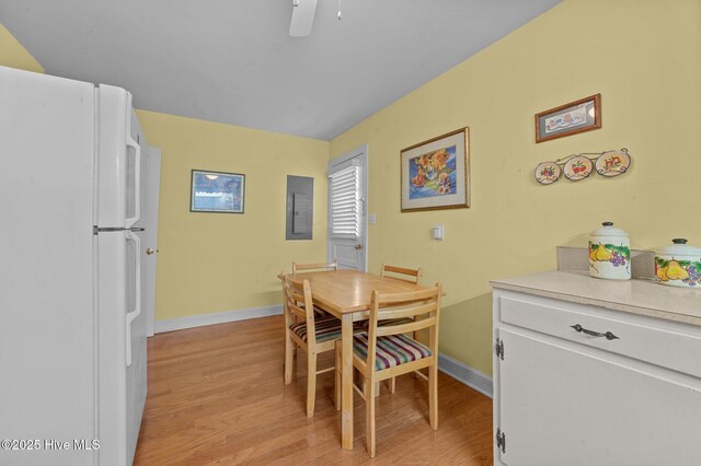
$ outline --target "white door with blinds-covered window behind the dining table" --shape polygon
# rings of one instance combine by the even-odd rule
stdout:
[[[367,270],[367,144],[329,162],[326,258],[344,269]]]

